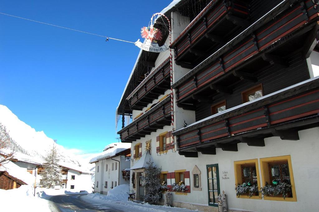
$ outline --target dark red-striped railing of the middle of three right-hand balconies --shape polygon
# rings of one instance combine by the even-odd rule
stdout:
[[[305,3],[285,1],[279,4],[273,11],[260,18],[254,25],[175,82],[173,88],[176,90],[177,102],[210,86],[217,77],[227,72],[233,73],[236,77],[249,77],[249,73],[236,73],[230,70],[244,69],[244,65],[249,64],[252,58],[259,57],[270,64],[276,63],[277,56],[264,54],[265,51],[272,50],[269,47],[284,42],[280,39],[292,36],[293,33],[310,27],[310,24],[315,27],[315,21],[319,20],[318,11],[319,6],[315,8],[311,0]],[[276,18],[273,18],[276,14],[278,14]]]

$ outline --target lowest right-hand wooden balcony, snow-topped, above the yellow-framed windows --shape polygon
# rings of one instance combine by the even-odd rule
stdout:
[[[319,122],[319,77],[229,108],[173,132],[180,154],[237,151],[237,143],[264,146],[264,138],[299,140],[298,130]],[[308,127],[310,128],[310,127]],[[196,152],[196,153],[195,153]]]

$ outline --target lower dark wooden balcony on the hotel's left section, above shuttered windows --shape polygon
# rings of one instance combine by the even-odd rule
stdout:
[[[156,132],[157,129],[163,129],[164,126],[170,125],[171,102],[170,96],[168,96],[138,119],[122,128],[117,134],[120,134],[122,142],[132,143],[145,135],[151,135],[151,132]]]

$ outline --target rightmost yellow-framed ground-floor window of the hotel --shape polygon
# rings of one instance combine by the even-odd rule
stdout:
[[[286,198],[282,197],[282,194],[278,196],[265,195],[265,200],[297,201],[290,155],[260,158],[260,168],[263,186],[266,183],[272,185],[273,181],[286,182],[291,185],[291,192]]]

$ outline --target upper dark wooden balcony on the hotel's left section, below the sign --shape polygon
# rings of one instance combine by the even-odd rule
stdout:
[[[170,89],[169,58],[154,69],[127,97],[132,110],[142,110]]]

